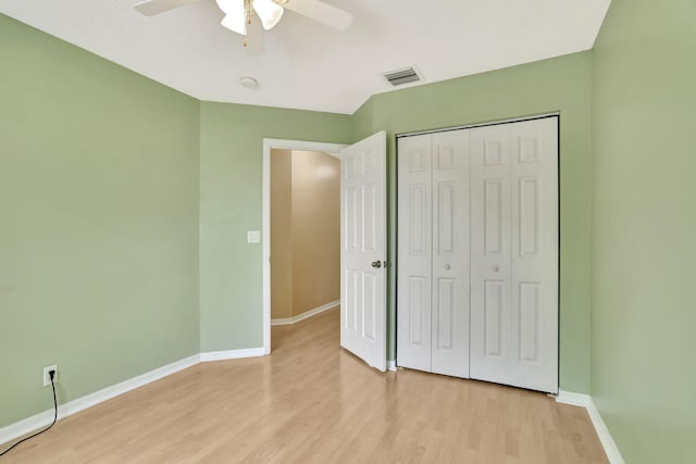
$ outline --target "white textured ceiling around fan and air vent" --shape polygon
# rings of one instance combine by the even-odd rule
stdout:
[[[137,1],[0,0],[0,12],[200,100],[352,113],[394,89],[386,71],[415,65],[422,85],[591,49],[610,3],[325,0],[353,14],[347,30],[287,11],[248,57],[214,0],[152,17]]]

